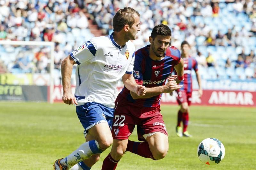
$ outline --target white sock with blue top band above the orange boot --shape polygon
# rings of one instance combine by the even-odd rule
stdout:
[[[101,153],[99,144],[96,140],[83,143],[78,149],[68,155],[65,159],[61,159],[62,165],[67,165],[68,168],[76,165],[84,159],[90,158],[93,154]]]

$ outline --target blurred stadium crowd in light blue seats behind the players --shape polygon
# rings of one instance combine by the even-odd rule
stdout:
[[[124,6],[141,14],[136,49],[149,44],[152,28],[163,23],[172,30],[172,46],[180,49],[183,40],[191,45],[203,79],[256,78],[253,0],[0,0],[0,40],[54,42],[58,72],[72,49],[94,36],[88,19],[110,34],[115,12]],[[47,73],[49,51],[1,45],[0,63],[6,72]]]

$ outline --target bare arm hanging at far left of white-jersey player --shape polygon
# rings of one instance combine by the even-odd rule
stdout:
[[[71,92],[71,74],[73,65],[76,62],[70,57],[66,57],[61,63],[61,78],[63,86],[63,96],[62,101],[66,104],[77,104],[76,97]]]

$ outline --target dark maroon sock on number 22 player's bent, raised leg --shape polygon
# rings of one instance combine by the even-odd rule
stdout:
[[[134,142],[134,141],[128,140],[126,151],[135,153],[144,158],[151,158],[153,160],[156,160],[154,159],[149,149],[148,142]]]

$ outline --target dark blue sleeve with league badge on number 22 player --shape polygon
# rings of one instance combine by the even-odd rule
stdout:
[[[134,67],[133,67],[133,76],[137,84],[143,84],[143,61],[142,57],[139,54],[136,54],[134,57]]]

